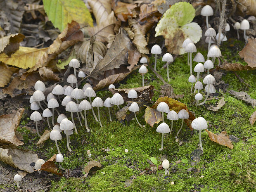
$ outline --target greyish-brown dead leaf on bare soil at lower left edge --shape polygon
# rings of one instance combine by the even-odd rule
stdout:
[[[33,167],[30,164],[36,162],[38,156],[32,151],[18,149],[14,145],[7,145],[0,147],[0,160],[14,168],[33,173]]]

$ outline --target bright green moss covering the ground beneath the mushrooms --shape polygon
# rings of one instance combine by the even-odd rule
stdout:
[[[242,62],[237,54],[242,49],[241,42],[235,42],[235,50],[230,47],[230,42],[222,46],[223,59],[229,62]],[[231,44],[231,45],[232,45]],[[206,53],[202,52],[204,55]],[[154,61],[154,58],[151,58]],[[157,70],[167,81],[166,69],[161,67],[164,62],[159,58]],[[196,63],[193,63],[195,66]],[[228,90],[245,91],[252,98],[256,99],[256,73],[255,71],[241,71],[237,74],[249,85],[242,84],[234,73],[224,72],[222,80],[228,84]],[[145,75],[146,85],[154,85],[153,103],[157,100],[160,86],[164,83],[149,70]],[[164,138],[164,149],[159,151],[161,146],[161,134],[156,133],[154,127],[146,125],[140,128],[136,120],[132,120],[126,125],[114,121],[109,122],[108,111],[105,108],[100,110],[103,128],[94,121],[91,112],[88,114],[90,133],[85,127],[78,126],[78,135],[71,135],[71,149],[66,148],[66,140],[59,143],[60,150],[64,156],[62,167],[66,169],[82,170],[81,177],[62,177],[52,181],[50,192],[121,192],[121,191],[202,191],[202,192],[253,192],[256,186],[256,126],[249,124],[249,117],[255,111],[251,106],[241,100],[237,100],[228,92],[216,90],[217,99],[206,102],[206,105],[194,107],[194,99],[190,96],[191,84],[187,82],[189,67],[187,66],[186,55],[179,56],[170,65],[171,82],[175,94],[184,94],[181,102],[194,111],[196,117],[202,116],[209,125],[209,130],[213,133],[226,131],[228,135],[234,135],[238,142],[233,142],[234,149],[229,149],[223,145],[212,142],[206,131],[202,132],[202,145],[204,153],[200,156],[200,161],[194,162],[193,154],[199,145],[199,135],[197,131],[191,135],[189,128],[183,127],[179,135],[179,142],[175,141],[175,133],[180,127],[180,120],[174,122],[173,135],[166,134]],[[133,88],[141,86],[142,77],[134,72],[119,88]],[[109,91],[97,92],[97,96],[103,100],[111,97]],[[209,105],[216,105],[218,98],[225,98],[225,105],[218,111],[207,109]],[[116,107],[111,108],[113,119]],[[145,109],[137,113],[137,117],[142,124],[146,124],[143,119]],[[24,120],[25,121],[25,120]],[[167,120],[167,123],[170,123]],[[47,123],[45,123],[47,128]],[[33,139],[26,136],[26,130],[19,128],[23,132],[25,147],[38,152],[40,158],[47,159],[57,153],[55,143],[48,140],[43,149],[38,149],[33,144],[38,137]],[[31,135],[31,133],[30,133]],[[36,136],[36,135],[33,135]],[[183,141],[179,145],[180,140]],[[124,149],[129,152],[125,153]],[[99,161],[102,168],[92,170],[84,177],[83,167],[90,161],[87,150],[90,150],[93,160]],[[150,157],[156,157],[160,162],[161,157],[165,157],[171,164],[175,161],[183,162],[175,165],[170,170],[170,176],[164,177],[164,170],[151,171],[149,164]],[[188,161],[187,161],[188,160]],[[188,171],[193,168],[192,171]],[[189,169],[191,170],[191,169]],[[66,174],[68,175],[68,173]],[[171,182],[174,185],[171,185]],[[129,183],[129,184],[128,184]]]

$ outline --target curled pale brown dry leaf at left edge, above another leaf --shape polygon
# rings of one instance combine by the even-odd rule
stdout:
[[[0,116],[0,144],[9,145],[14,144],[16,146],[23,145],[16,137],[16,130],[19,127],[24,108],[20,108],[13,114],[5,114]]]

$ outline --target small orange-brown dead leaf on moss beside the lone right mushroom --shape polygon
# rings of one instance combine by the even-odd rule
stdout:
[[[229,137],[226,131],[222,131],[219,135],[216,135],[215,133],[211,133],[211,131],[207,129],[206,129],[206,132],[208,133],[208,136],[210,137],[211,141],[216,142],[220,145],[227,146],[230,149],[234,148],[234,146],[232,145],[232,141],[229,140]]]

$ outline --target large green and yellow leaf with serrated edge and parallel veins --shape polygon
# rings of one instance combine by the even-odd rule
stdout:
[[[82,0],[43,0],[43,5],[52,24],[63,31],[68,23],[92,24],[92,17]]]

